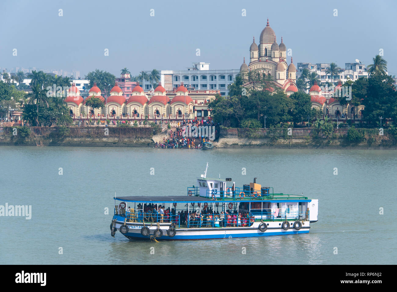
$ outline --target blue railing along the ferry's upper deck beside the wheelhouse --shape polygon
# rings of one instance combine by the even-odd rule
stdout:
[[[274,190],[272,187],[260,190],[236,187],[235,190],[227,188],[220,192],[218,190],[207,190],[206,197],[216,198],[216,200],[268,200],[274,197]]]

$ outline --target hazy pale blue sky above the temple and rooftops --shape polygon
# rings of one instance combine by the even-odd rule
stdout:
[[[269,17],[295,64],[368,65],[383,49],[397,75],[396,8],[396,1],[0,0],[0,67],[77,69],[82,77],[94,69],[116,76],[123,67],[133,75],[183,70],[192,62],[239,69]]]

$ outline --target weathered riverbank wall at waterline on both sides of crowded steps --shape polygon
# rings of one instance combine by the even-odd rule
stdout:
[[[390,133],[365,129],[362,139],[349,141],[347,129],[328,138],[314,129],[221,129],[216,148],[397,149]],[[0,145],[154,147],[166,129],[151,127],[0,127]]]

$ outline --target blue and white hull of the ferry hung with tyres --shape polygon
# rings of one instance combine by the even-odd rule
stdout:
[[[259,236],[272,236],[272,235],[291,235],[309,233],[309,221],[303,221],[304,225],[300,230],[294,229],[292,226],[284,230],[279,225],[280,222],[266,222],[269,224],[268,229],[261,232],[258,229],[260,222],[255,222],[251,227],[216,227],[216,228],[177,228],[176,234],[173,237],[167,235],[167,230],[171,227],[170,223],[160,223],[160,229],[163,232],[161,237],[156,237],[156,240],[203,240],[203,239],[221,239],[221,238],[241,238],[241,237],[259,237]],[[293,222],[292,222],[293,223]],[[116,228],[123,223],[116,222]],[[130,240],[152,240],[154,236],[144,236],[141,234],[143,227],[142,223],[127,223],[129,230],[123,234]],[[149,228],[150,235],[154,234],[157,229],[157,224],[145,224]]]

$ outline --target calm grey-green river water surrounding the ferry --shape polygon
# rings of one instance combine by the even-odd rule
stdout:
[[[1,263],[395,264],[396,154],[0,146],[0,205],[32,206],[30,220],[0,217]],[[318,222],[309,234],[261,238],[156,243],[110,236],[115,191],[185,195],[207,161],[207,177],[231,177],[238,186],[257,177],[275,192],[319,199]]]

